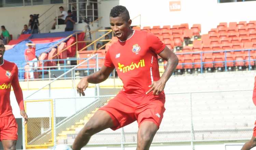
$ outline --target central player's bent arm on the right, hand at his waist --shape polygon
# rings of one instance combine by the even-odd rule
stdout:
[[[150,90],[146,94],[150,93],[153,90],[153,94],[160,94],[165,88],[166,82],[171,77],[173,72],[176,69],[176,66],[179,63],[177,56],[167,47],[158,54],[162,59],[167,61],[165,71],[163,72],[161,78],[158,81],[154,81],[150,86]]]

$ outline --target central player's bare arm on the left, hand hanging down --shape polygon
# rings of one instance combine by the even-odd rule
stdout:
[[[115,67],[106,67],[103,65],[99,71],[83,77],[77,85],[77,93],[80,96],[81,94],[84,96],[84,91],[88,87],[88,83],[98,84],[105,81],[114,69]]]

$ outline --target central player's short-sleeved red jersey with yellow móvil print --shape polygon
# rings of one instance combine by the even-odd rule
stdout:
[[[145,95],[148,86],[160,79],[157,54],[165,46],[153,33],[134,30],[129,39],[110,46],[104,65],[117,69],[124,84],[123,92]]]

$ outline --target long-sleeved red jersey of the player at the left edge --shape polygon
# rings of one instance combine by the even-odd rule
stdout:
[[[10,102],[11,86],[13,87],[20,110],[24,110],[22,89],[19,86],[18,67],[15,63],[4,60],[0,65],[0,117],[12,114]]]

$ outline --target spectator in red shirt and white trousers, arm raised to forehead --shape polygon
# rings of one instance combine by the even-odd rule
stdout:
[[[37,57],[35,56],[35,44],[33,44],[32,42],[28,42],[26,46],[28,46],[28,48],[25,50],[24,55],[27,64],[29,65],[29,67],[37,67]],[[37,70],[37,68],[29,70],[31,71],[29,72],[30,79],[34,79],[34,72],[32,70]]]

